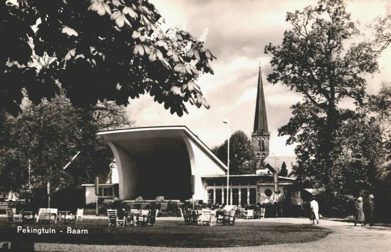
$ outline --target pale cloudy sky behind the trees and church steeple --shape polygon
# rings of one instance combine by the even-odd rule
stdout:
[[[206,47],[217,60],[212,62],[215,75],[206,74],[198,84],[212,106],[207,110],[187,105],[189,115],[177,117],[146,95],[130,100],[128,111],[136,126],[185,125],[209,147],[221,144],[227,137],[225,118],[231,120],[232,132],[243,130],[251,135],[257,92],[258,66],[261,58],[267,119],[271,132],[270,153],[294,155],[294,146],[285,146],[286,137],[278,137],[277,129],[291,116],[290,106],[301,96],[281,84],[266,80],[272,72],[270,55],[263,53],[269,42],[281,44],[283,32],[291,27],[285,22],[288,11],[315,5],[314,0],[150,0],[165,18],[168,26],[187,22],[186,30],[200,37],[209,29]],[[347,1],[352,20],[365,27],[376,16],[385,15],[386,1]],[[376,93],[381,81],[391,82],[386,70],[390,69],[391,49],[380,60],[381,73],[367,76],[368,92]]]

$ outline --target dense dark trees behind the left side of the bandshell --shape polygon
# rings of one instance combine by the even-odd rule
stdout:
[[[93,183],[96,175],[106,177],[113,155],[96,133],[132,125],[123,108],[117,106],[115,110],[110,104],[75,108],[64,95],[38,106],[25,100],[23,110],[17,118],[1,113],[2,192],[26,192],[29,160],[32,187],[43,189],[50,181],[53,193],[69,186]],[[78,157],[63,170],[78,151],[81,151]]]

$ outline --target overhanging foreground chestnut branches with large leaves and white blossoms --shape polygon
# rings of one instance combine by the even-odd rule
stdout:
[[[163,31],[164,19],[147,0],[4,1],[0,15],[7,38],[0,49],[0,109],[14,116],[22,112],[24,89],[38,105],[58,95],[60,85],[77,106],[128,105],[129,97],[149,92],[179,116],[186,102],[209,108],[195,84],[200,74],[213,74],[206,32],[197,40],[180,26]],[[34,55],[54,60],[37,71]]]

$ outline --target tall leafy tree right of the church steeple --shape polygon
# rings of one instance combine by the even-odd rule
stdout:
[[[299,143],[295,149],[299,181],[336,191],[341,175],[336,164],[349,149],[339,140],[352,134],[344,126],[363,116],[339,105],[346,98],[357,106],[364,104],[363,75],[377,71],[378,54],[370,42],[345,48],[360,33],[342,0],[321,0],[315,7],[288,12],[286,21],[293,28],[285,31],[282,45],[265,47],[275,67],[267,79],[301,93],[304,101],[291,107],[293,116],[279,135],[289,136],[287,144]]]

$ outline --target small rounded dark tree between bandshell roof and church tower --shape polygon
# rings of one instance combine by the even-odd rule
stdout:
[[[254,173],[254,149],[250,139],[241,131],[235,131],[230,137],[229,169],[230,174],[251,174]],[[227,165],[227,145],[228,141],[212,149],[212,152]]]

